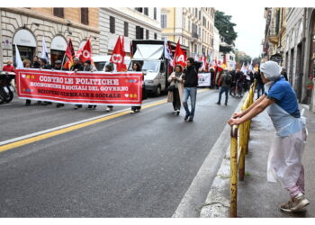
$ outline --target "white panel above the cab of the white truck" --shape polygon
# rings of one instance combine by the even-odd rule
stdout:
[[[138,44],[137,50],[134,53],[134,59],[159,59],[163,55],[163,45]]]

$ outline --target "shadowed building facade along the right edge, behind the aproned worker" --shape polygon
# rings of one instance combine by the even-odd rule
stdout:
[[[299,102],[315,112],[315,9],[266,8],[265,18],[263,56],[280,54]]]

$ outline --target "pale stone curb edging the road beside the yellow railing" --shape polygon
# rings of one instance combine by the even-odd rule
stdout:
[[[238,103],[236,111],[240,111],[246,97],[247,94],[245,94],[243,99]],[[226,130],[228,130],[228,132],[226,132]],[[227,124],[220,135],[220,139],[223,138],[225,141],[229,140],[229,131],[230,126]],[[216,144],[213,148],[216,147]],[[225,148],[225,157],[221,162],[217,175],[214,177],[207,199],[202,206],[200,213],[201,218],[229,218],[229,198],[227,198],[227,196],[229,196],[230,152],[228,149],[229,147]]]

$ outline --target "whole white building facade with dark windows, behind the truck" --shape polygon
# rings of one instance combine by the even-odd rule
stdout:
[[[124,37],[124,49],[130,53],[130,40],[161,40],[161,9],[100,8],[100,54],[111,54],[119,36]]]

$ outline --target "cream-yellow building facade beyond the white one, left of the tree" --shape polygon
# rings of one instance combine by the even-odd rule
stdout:
[[[189,56],[213,51],[214,8],[167,7],[161,10],[162,36],[189,48]],[[213,53],[212,53],[213,54]]]

